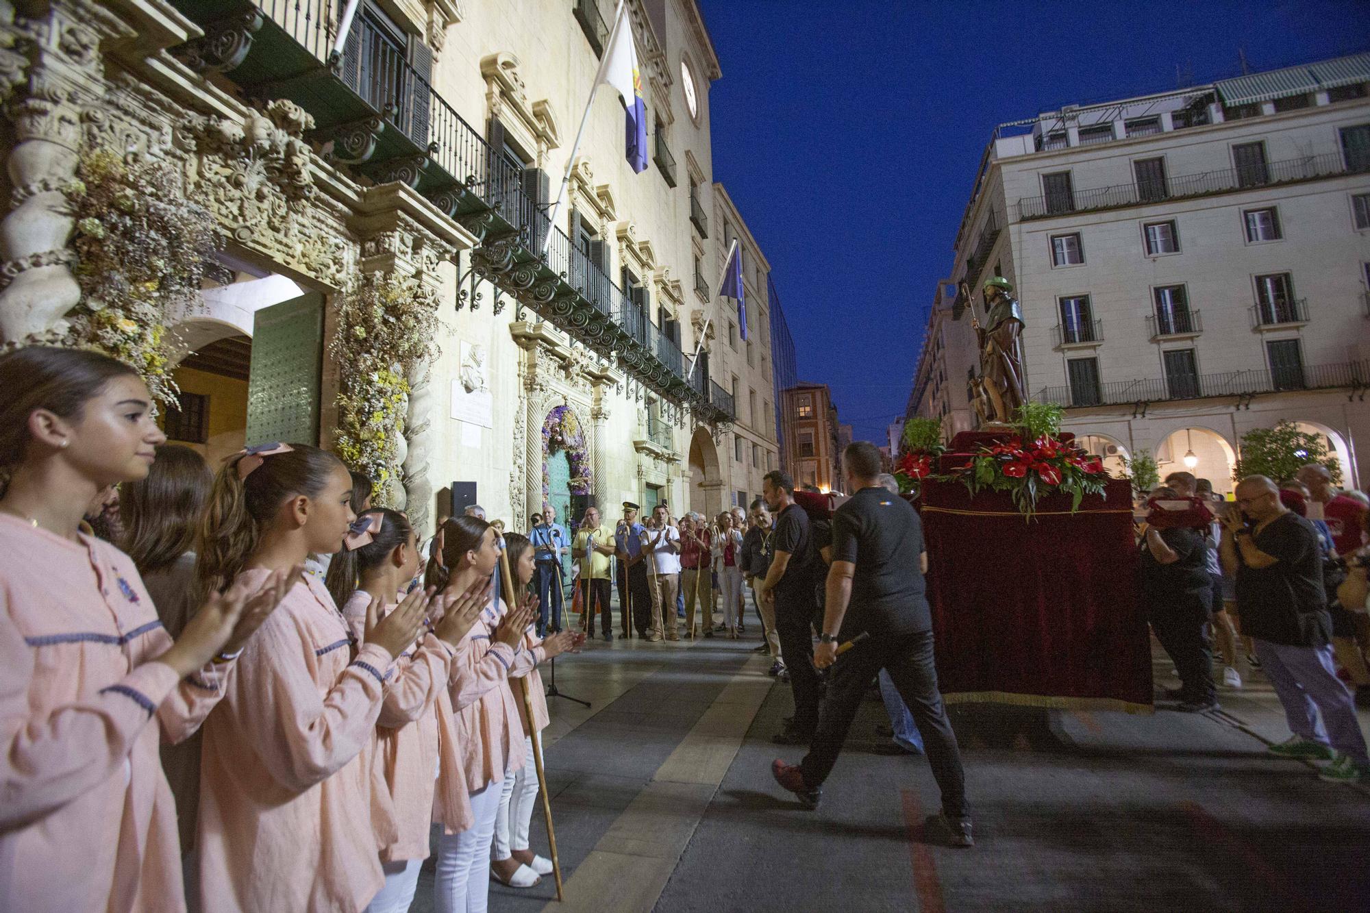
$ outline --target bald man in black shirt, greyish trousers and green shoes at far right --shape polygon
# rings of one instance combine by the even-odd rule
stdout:
[[[1322,555],[1312,524],[1280,502],[1265,476],[1237,485],[1237,507],[1223,518],[1218,554],[1237,576],[1241,633],[1256,647],[1260,669],[1284,705],[1293,732],[1270,751],[1286,758],[1330,759],[1323,780],[1370,779],[1370,757],[1351,691],[1332,659],[1332,617],[1322,587]]]

